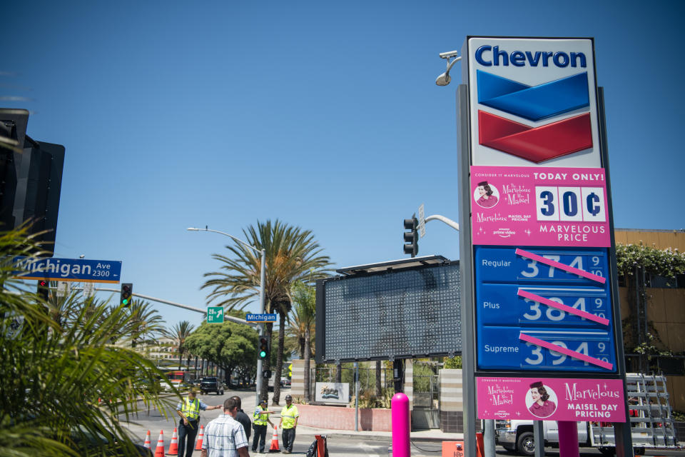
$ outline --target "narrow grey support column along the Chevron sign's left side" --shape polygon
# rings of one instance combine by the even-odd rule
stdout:
[[[459,135],[460,154],[460,275],[462,288],[460,301],[462,304],[462,386],[464,388],[464,451],[465,456],[476,456],[476,386],[475,386],[475,360],[474,360],[474,334],[473,334],[473,276],[472,276],[472,248],[471,248],[471,221],[467,218],[470,208],[470,182],[464,179],[469,176],[470,167],[470,139],[469,139],[469,107],[468,86],[460,84],[457,88],[457,133]]]

